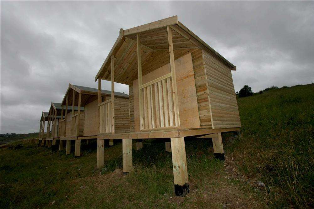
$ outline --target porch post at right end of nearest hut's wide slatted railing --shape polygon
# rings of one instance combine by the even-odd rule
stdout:
[[[171,81],[172,81],[172,93],[173,93],[173,106],[175,111],[175,122],[176,126],[180,126],[180,116],[179,116],[179,104],[178,104],[178,92],[176,86],[176,69],[175,69],[175,58],[172,43],[172,33],[169,26],[167,26],[168,32],[168,45],[169,45],[169,57],[170,57],[170,70],[171,70]]]

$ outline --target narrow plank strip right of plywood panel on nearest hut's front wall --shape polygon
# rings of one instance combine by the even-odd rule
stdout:
[[[201,127],[212,128],[202,50],[192,52],[193,71]]]

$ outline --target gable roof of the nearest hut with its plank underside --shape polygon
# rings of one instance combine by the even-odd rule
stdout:
[[[130,85],[137,79],[137,33],[140,37],[142,75],[169,63],[168,26],[172,31],[175,59],[201,49],[219,58],[230,70],[236,70],[235,65],[180,23],[177,16],[173,16],[127,30],[120,29],[115,44],[95,76],[95,81],[98,78],[111,81],[112,55],[115,61],[115,82]]]

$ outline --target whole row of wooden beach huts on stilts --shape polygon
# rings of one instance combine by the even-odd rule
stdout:
[[[241,127],[231,64],[178,21],[165,18],[120,29],[95,76],[98,89],[69,84],[61,103],[42,112],[39,146],[81,154],[81,141],[97,140],[97,167],[104,166],[105,140],[122,139],[123,172],[132,170],[132,139],[165,139],[172,154],[176,195],[189,191],[184,137],[212,138],[224,160],[222,132]],[[101,90],[101,80],[112,91]],[[127,84],[129,95],[115,92]]]

